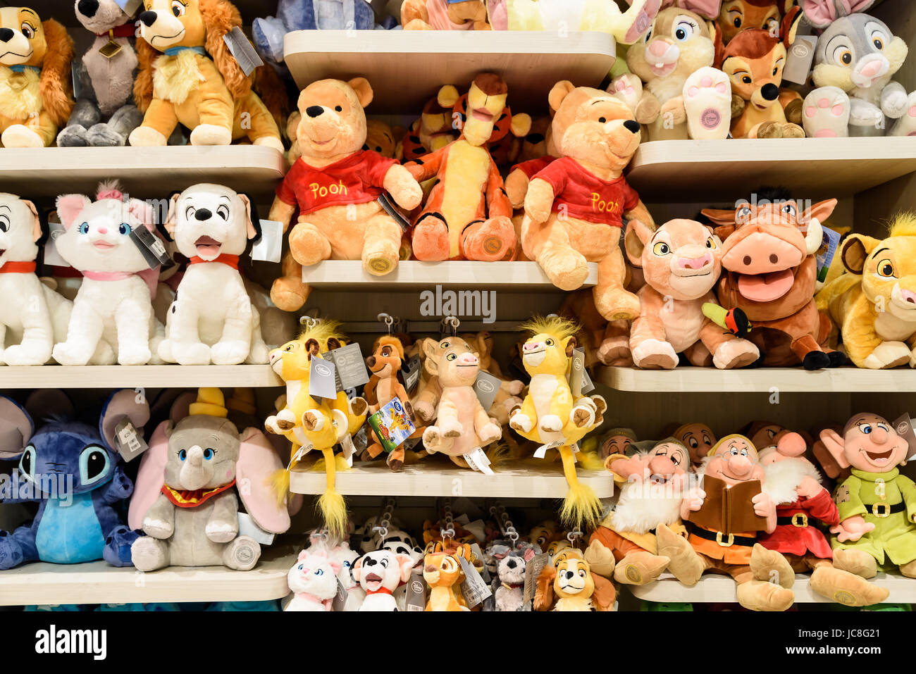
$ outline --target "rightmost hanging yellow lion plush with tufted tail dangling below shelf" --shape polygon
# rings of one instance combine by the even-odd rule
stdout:
[[[601,501],[587,484],[579,484],[575,472],[576,442],[601,426],[607,408],[601,396],[573,397],[567,375],[578,326],[561,318],[536,318],[519,326],[531,334],[522,347],[522,363],[531,376],[528,395],[521,408],[509,417],[519,435],[559,448],[569,491],[560,516],[571,527],[594,525],[601,514]]]

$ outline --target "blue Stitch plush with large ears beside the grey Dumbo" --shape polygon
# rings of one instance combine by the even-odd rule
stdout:
[[[39,415],[44,425],[36,430],[32,418]],[[146,399],[131,389],[115,392],[97,429],[73,416],[60,391],[38,391],[26,408],[0,397],[0,460],[19,462],[0,478],[0,503],[38,502],[30,524],[12,534],[0,530],[0,570],[26,561],[132,565],[130,546],[139,535],[125,527],[120,511],[134,483],[114,449],[114,433],[123,419],[142,433]]]

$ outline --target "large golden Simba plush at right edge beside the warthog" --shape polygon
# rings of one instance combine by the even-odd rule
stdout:
[[[916,216],[898,215],[884,240],[850,234],[839,253],[847,273],[817,300],[840,328],[850,360],[872,370],[916,367]]]

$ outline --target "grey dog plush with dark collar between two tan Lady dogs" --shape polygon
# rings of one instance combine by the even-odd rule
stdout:
[[[58,146],[124,146],[143,122],[143,113],[134,105],[139,61],[133,16],[114,0],[74,0],[73,5],[77,20],[95,39],[80,60],[82,92],[58,134]]]

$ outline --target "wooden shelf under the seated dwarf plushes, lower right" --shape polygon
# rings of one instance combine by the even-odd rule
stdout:
[[[916,580],[900,575],[878,573],[872,579],[878,587],[887,588],[890,595],[885,603],[916,602]],[[647,585],[627,585],[627,589],[638,599],[647,602],[667,603],[737,603],[735,581],[728,576],[705,575],[693,587],[678,582],[671,573],[662,573],[657,582]],[[812,591],[807,574],[795,576],[792,586],[795,603],[833,603]]]

